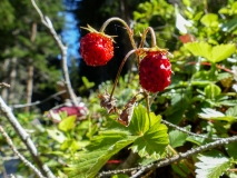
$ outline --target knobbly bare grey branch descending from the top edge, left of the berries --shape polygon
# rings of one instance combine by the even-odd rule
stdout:
[[[78,100],[77,97],[71,88],[71,82],[70,82],[70,78],[69,78],[69,73],[68,73],[68,65],[67,65],[67,50],[68,47],[65,46],[61,41],[61,39],[59,38],[59,36],[57,34],[50,19],[48,17],[45,17],[43,13],[41,12],[41,10],[38,8],[38,6],[36,4],[34,0],[31,0],[32,6],[34,7],[34,9],[37,10],[37,12],[40,16],[41,22],[49,29],[49,32],[51,33],[51,36],[53,37],[55,41],[57,42],[60,51],[61,51],[61,66],[62,66],[62,73],[63,73],[63,78],[65,78],[65,85],[67,88],[67,92],[70,96],[70,99],[72,100],[75,106],[78,106]]]

